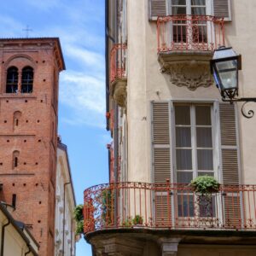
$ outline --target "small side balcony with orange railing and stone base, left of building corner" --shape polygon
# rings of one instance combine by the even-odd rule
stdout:
[[[120,107],[126,102],[126,44],[114,44],[110,51],[110,94]]]

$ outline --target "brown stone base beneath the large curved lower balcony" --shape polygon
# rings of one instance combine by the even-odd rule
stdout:
[[[145,230],[95,231],[85,236],[94,256],[255,256],[255,231]],[[207,255],[208,256],[208,255]]]

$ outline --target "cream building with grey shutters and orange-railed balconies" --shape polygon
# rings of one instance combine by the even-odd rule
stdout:
[[[253,0],[106,1],[110,183],[84,190],[95,255],[254,255],[255,105],[223,102],[215,49],[242,57],[239,96],[253,87]],[[243,111],[243,112],[241,112]],[[218,192],[188,184],[215,177]]]

